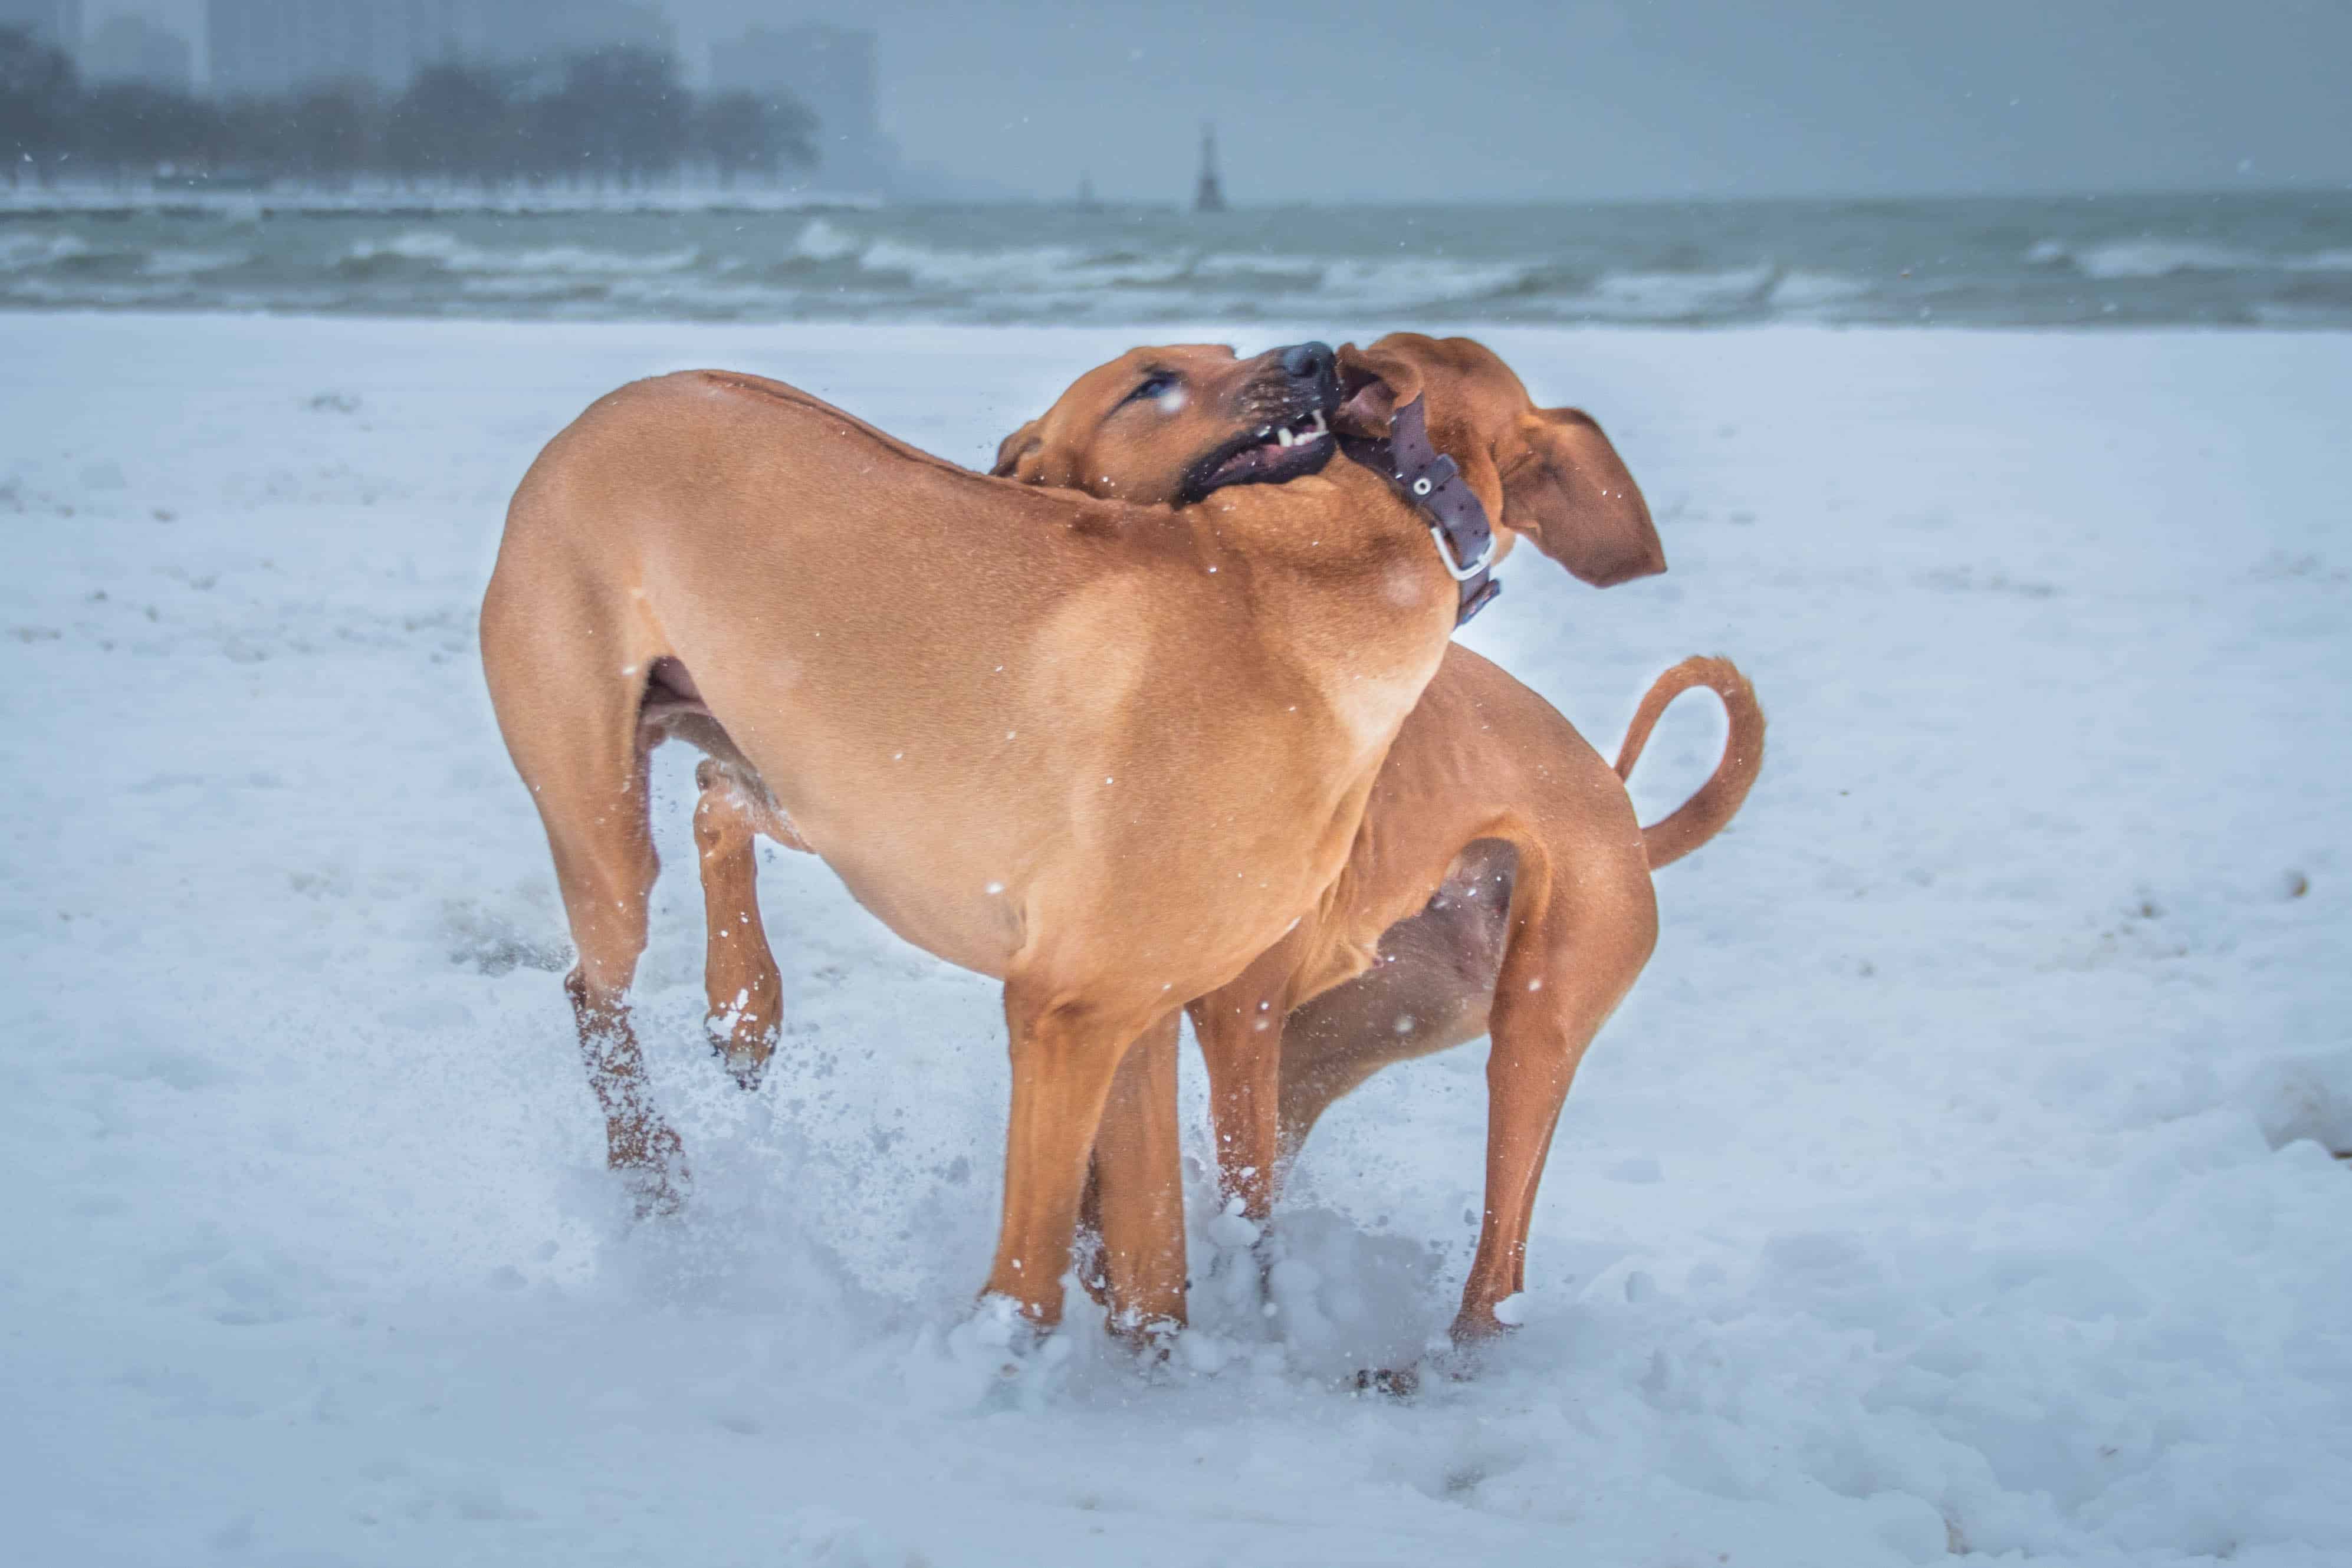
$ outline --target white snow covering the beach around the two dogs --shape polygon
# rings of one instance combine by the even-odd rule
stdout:
[[[985,463],[1136,336],[5,317],[9,1561],[2347,1561],[2347,336],[1489,334],[1672,571],[1522,552],[1470,642],[1604,750],[1729,654],[1771,745],[1468,1380],[1350,1373],[1451,1316],[1477,1048],[1336,1110],[1268,1237],[1195,1192],[1164,1368],[1080,1300],[1000,1385],[995,987],[767,856],[736,1091],[677,748],[640,1020],[696,1190],[626,1220],[473,651],[524,463],[682,364]],[[1717,743],[1677,705],[1644,816]]]

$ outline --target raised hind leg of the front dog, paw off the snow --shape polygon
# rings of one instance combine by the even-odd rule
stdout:
[[[776,954],[760,924],[760,860],[755,842],[771,816],[748,797],[746,785],[715,757],[694,769],[701,799],[694,804],[694,846],[703,872],[703,992],[710,1013],[703,1025],[710,1048],[727,1058],[727,1072],[743,1088],[757,1088],[783,1030]]]

